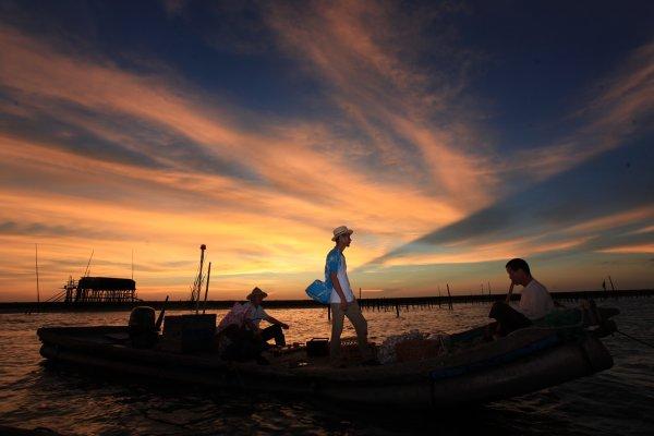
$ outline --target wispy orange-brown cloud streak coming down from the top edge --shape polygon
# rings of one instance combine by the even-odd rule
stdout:
[[[469,211],[487,204],[497,183],[485,150],[468,143],[473,126],[455,110],[473,57],[453,59],[445,46],[433,45],[432,53],[452,61],[453,71],[417,65],[423,33],[444,13],[446,8],[407,14],[391,3],[310,2],[274,5],[269,23],[282,47],[323,78],[326,96],[365,135],[370,153],[380,156],[382,170],[424,177],[427,192]]]

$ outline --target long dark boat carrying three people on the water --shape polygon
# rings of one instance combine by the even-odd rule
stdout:
[[[269,365],[227,362],[216,352],[193,354],[132,347],[128,326],[45,327],[40,353],[49,361],[93,370],[210,388],[322,396],[362,404],[451,407],[487,402],[548,388],[613,366],[600,340],[616,326],[603,310],[594,326],[530,327],[484,341],[484,327],[455,334],[446,352],[421,361],[335,368],[305,347],[270,355]]]

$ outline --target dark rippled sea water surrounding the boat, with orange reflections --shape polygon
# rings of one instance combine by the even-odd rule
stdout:
[[[607,300],[621,310],[618,328],[654,342],[654,299]],[[276,310],[290,342],[329,336],[326,310]],[[453,332],[486,322],[488,305],[365,311],[371,338],[411,329]],[[223,314],[225,311],[216,313]],[[319,399],[194,390],[90,377],[45,366],[40,326],[124,325],[129,313],[0,314],[0,423],[80,435],[211,434],[521,434],[653,435],[654,350],[616,335],[606,372],[496,403],[401,412],[356,409]],[[343,336],[353,336],[351,326]],[[349,330],[348,330],[349,329]]]

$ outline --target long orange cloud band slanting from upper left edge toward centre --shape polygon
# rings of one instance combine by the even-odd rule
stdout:
[[[269,132],[262,135],[245,133],[226,122],[216,121],[216,117],[219,120],[229,119],[226,116],[228,110],[206,108],[194,101],[198,98],[182,98],[181,94],[193,96],[197,93],[173,93],[161,77],[136,76],[112,65],[98,65],[84,59],[57,55],[47,46],[8,29],[0,34],[0,38],[8,46],[16,47],[5,52],[4,63],[11,66],[0,71],[0,78],[4,83],[41,97],[56,97],[100,112],[123,112],[159,123],[202,144],[221,158],[253,168],[282,193],[286,191],[295,196],[334,197],[336,195],[332,193],[347,185],[350,186],[350,198],[358,197],[354,198],[356,203],[373,198],[371,205],[378,205],[379,201],[388,197],[389,192],[393,199],[398,196],[407,199],[419,196],[416,199],[420,203],[436,205],[428,206],[436,211],[427,215],[432,216],[426,219],[432,226],[449,222],[461,214],[460,207],[448,204],[450,202],[447,198],[429,198],[428,195],[419,194],[411,182],[407,185],[395,182],[390,186],[379,186],[376,180],[359,175],[359,171],[343,161],[343,156],[313,150],[312,140],[316,133],[314,128],[300,125],[271,132],[272,135]],[[130,144],[130,141],[124,141],[122,132],[107,132],[107,129],[89,125],[86,119],[82,122],[85,129],[108,140]],[[328,135],[320,140],[327,143],[340,142]],[[171,159],[166,158],[165,150],[161,152],[161,156],[153,157],[166,164],[171,162]],[[316,168],[329,171],[330,177],[316,178]],[[190,179],[193,180],[194,177]],[[400,202],[402,203],[417,204]],[[416,211],[427,211],[421,209],[417,206]],[[387,215],[387,211],[379,215]]]

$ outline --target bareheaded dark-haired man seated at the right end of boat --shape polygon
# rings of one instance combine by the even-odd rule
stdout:
[[[489,318],[497,320],[492,325],[492,329],[494,329],[494,334],[499,336],[506,336],[513,330],[529,327],[533,324],[533,320],[544,317],[554,308],[554,301],[547,289],[532,277],[526,262],[521,258],[513,258],[507,263],[506,268],[511,279],[507,300],[506,302],[500,301],[493,304],[488,314]],[[516,284],[524,287],[520,295],[518,310],[509,305]]]

